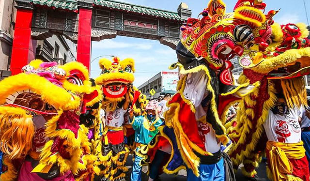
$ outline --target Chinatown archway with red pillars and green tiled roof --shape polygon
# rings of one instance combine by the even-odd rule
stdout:
[[[114,0],[16,0],[11,71],[34,59],[36,40],[64,35],[78,44],[77,60],[90,68],[92,41],[117,35],[153,39],[175,49],[180,27],[191,16],[185,3],[177,12]]]

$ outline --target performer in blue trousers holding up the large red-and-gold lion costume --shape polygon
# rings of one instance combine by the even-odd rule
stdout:
[[[221,150],[229,138],[222,124],[225,119],[220,121],[218,116],[219,95],[246,89],[248,84],[233,86],[230,60],[242,56],[244,46],[252,42],[265,48],[270,37],[270,26],[261,11],[264,4],[255,5],[238,3],[233,13],[226,14],[221,0],[211,0],[201,13],[202,19],[190,18],[181,27],[178,63],[171,65],[179,67],[178,92],[168,103],[167,126],[160,132],[172,145],[165,172],[187,169],[188,181],[234,180],[230,159]],[[255,33],[250,37],[240,33],[245,27]]]

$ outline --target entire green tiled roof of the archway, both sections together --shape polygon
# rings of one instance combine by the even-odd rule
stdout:
[[[33,4],[43,5],[48,7],[55,7],[66,10],[77,10],[78,0],[31,0]],[[182,21],[180,15],[176,12],[170,12],[135,4],[130,4],[126,2],[119,2],[114,0],[93,0],[93,4],[96,6],[112,8],[121,11],[128,11],[132,13],[138,13],[141,15],[151,15],[155,17],[173,19],[177,21]]]

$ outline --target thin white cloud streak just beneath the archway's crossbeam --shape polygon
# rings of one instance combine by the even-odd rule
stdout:
[[[119,49],[119,48],[135,48],[140,50],[149,50],[153,47],[152,44],[137,44],[137,43],[125,43],[117,42],[115,40],[106,39],[100,42],[93,42],[92,47],[94,49]]]

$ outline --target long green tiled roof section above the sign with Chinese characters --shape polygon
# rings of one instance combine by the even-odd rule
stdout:
[[[150,7],[135,5],[135,4],[129,4],[126,2],[119,2],[114,0],[93,0],[93,3],[98,6],[118,9],[118,10],[124,10],[134,13],[143,13],[145,15],[152,15],[162,18],[168,18],[168,19],[175,19],[175,20],[183,20],[177,13],[165,11],[165,10],[159,10],[154,9]]]

